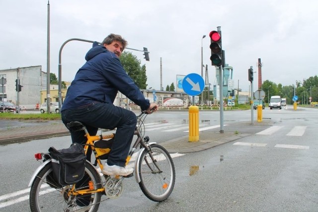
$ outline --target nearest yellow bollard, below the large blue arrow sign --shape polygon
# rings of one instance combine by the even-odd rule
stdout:
[[[189,106],[189,141],[199,141],[199,107]]]

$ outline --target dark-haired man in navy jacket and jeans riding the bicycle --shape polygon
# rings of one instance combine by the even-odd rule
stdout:
[[[157,104],[150,104],[145,99],[119,61],[126,45],[127,41],[116,34],[109,34],[100,45],[94,42],[85,56],[86,63],[68,88],[61,110],[65,125],[70,121],[80,121],[91,135],[96,135],[98,128],[117,128],[102,170],[106,175],[127,176],[134,172],[133,168],[126,168],[125,165],[137,118],[134,112],[113,105],[117,92],[124,94],[148,113],[158,110]],[[71,131],[71,137],[73,143],[86,143],[82,130]],[[90,155],[89,148],[89,161]]]

